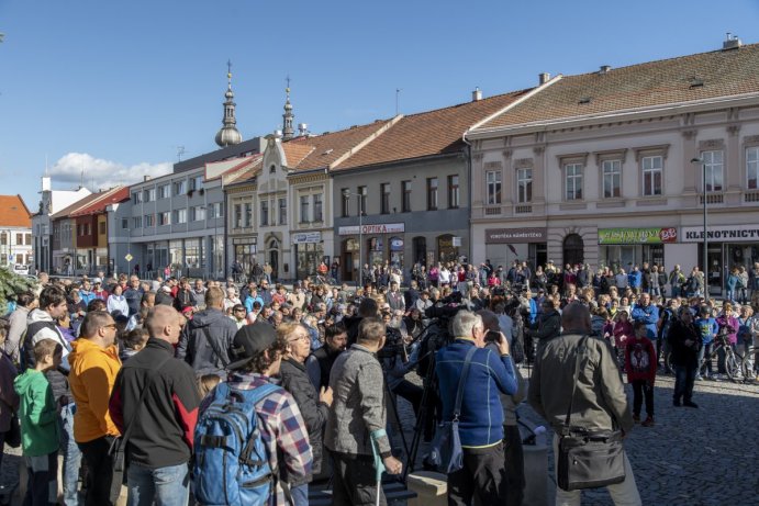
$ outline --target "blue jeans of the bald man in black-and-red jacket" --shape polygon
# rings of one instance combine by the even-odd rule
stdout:
[[[127,506],[187,506],[190,501],[190,468],[179,465],[149,469],[134,462],[126,471]]]

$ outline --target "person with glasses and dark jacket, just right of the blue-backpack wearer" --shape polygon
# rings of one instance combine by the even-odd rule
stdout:
[[[312,474],[302,479],[291,480],[289,482],[290,492],[295,506],[300,504],[308,505],[309,483],[314,475],[320,474],[322,471],[322,439],[330,406],[332,406],[332,389],[328,385],[326,387],[322,386],[317,394],[316,389],[309,380],[309,374],[305,370],[305,360],[311,351],[309,329],[303,324],[287,323],[281,324],[277,328],[277,334],[281,340],[287,341],[284,357],[279,370],[282,379],[281,385],[292,394],[295,404],[298,404],[303,415],[313,456]]]

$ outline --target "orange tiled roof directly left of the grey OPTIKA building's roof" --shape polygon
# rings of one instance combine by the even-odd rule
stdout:
[[[282,143],[288,167],[295,170],[332,168],[333,164],[339,162],[351,153],[360,153],[364,145],[373,136],[384,135],[381,134],[382,131],[393,121],[397,119],[378,120],[368,125],[351,126],[313,137],[297,137]]]

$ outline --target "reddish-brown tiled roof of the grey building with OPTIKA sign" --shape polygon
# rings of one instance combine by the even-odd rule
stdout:
[[[459,151],[461,136],[476,123],[485,120],[531,90],[513,91],[435,111],[403,116],[386,133],[369,143],[336,169],[387,164]]]

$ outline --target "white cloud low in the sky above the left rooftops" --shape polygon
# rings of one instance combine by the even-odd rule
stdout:
[[[142,164],[127,167],[118,161],[94,158],[86,153],[68,153],[60,157],[48,169],[56,187],[76,187],[85,181],[85,187],[91,191],[105,190],[119,184],[134,184],[145,176],[153,178],[171,172],[174,165],[169,161],[161,164]],[[82,178],[82,169],[85,171]]]

